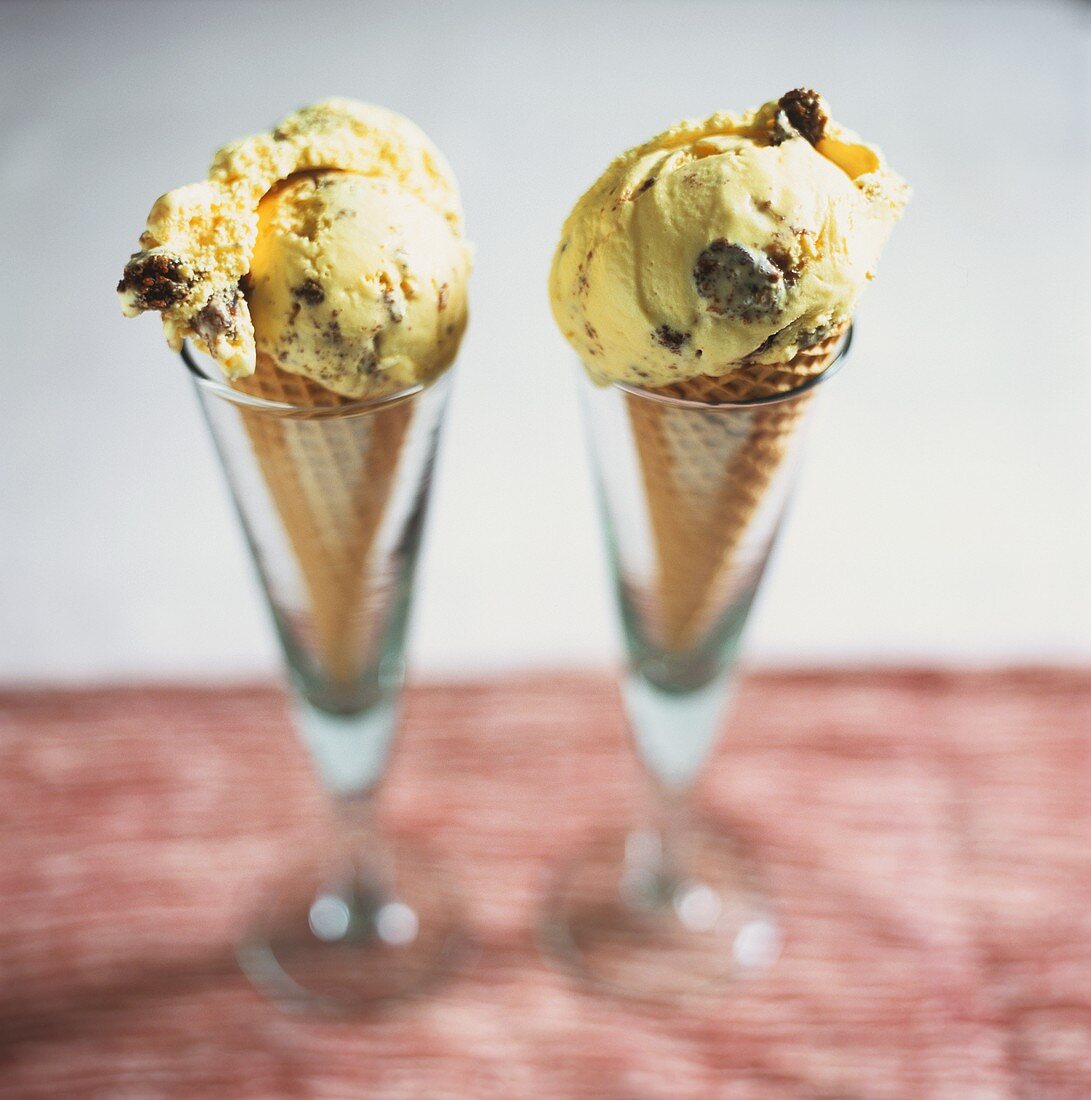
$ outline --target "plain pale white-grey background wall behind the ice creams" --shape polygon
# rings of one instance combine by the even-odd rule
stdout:
[[[552,248],[614,153],[797,85],[916,197],[818,409],[750,656],[1088,660],[1086,11],[0,4],[0,679],[272,667],[189,383],[113,284],[157,195],[329,95],[423,127],[477,246],[417,670],[611,660]]]

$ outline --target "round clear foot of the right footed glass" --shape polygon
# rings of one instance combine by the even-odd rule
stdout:
[[[655,1001],[713,996],[771,966],[780,933],[751,861],[708,826],[685,844],[685,872],[671,873],[657,832],[599,837],[553,882],[544,952],[603,991]]]

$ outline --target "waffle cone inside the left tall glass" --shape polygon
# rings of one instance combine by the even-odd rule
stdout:
[[[265,400],[304,408],[352,404],[258,355],[257,371],[232,383]],[[394,488],[411,406],[396,402],[344,418],[240,413],[305,587],[307,639],[333,684],[361,672],[372,623],[372,552]]]

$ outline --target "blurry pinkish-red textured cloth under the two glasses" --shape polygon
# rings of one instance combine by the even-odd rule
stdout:
[[[483,945],[428,1000],[283,1014],[230,952],[322,799],[264,688],[0,695],[0,1096],[1091,1097],[1091,673],[751,676],[699,790],[786,947],[699,1011],[543,965],[546,872],[635,806],[603,678],[414,690],[384,816]]]

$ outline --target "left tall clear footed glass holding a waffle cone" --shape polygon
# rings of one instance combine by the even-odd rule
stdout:
[[[442,867],[374,820],[448,375],[316,407],[290,391],[242,393],[188,349],[183,358],[273,613],[298,732],[332,803],[329,850],[284,876],[240,961],[294,1005],[344,1012],[409,994],[448,970],[462,943]]]

